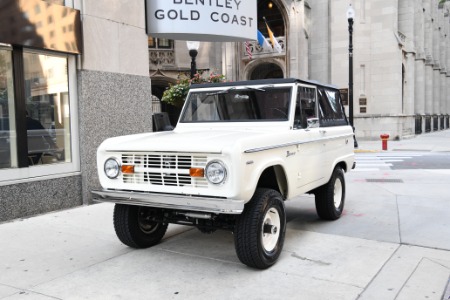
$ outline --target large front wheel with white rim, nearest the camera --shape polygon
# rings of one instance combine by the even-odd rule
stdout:
[[[275,190],[257,189],[237,218],[236,254],[249,267],[266,269],[278,259],[286,231],[284,202]]]

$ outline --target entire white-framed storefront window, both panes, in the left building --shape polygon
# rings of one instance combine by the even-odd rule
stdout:
[[[79,172],[75,58],[24,49],[13,80],[14,51],[0,49],[0,185]]]

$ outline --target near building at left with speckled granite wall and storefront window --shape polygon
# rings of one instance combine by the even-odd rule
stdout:
[[[4,0],[0,15],[0,222],[91,203],[99,144],[152,130],[144,2]]]

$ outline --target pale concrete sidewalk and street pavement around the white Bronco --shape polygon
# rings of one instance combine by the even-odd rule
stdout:
[[[268,270],[242,265],[226,231],[171,225],[127,248],[98,204],[0,224],[0,299],[450,299],[450,131],[359,143],[343,217],[288,201]]]

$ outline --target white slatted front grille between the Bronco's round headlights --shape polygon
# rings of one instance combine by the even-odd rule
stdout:
[[[122,163],[134,166],[133,174],[123,174],[123,183],[207,187],[205,178],[189,175],[190,168],[206,166],[206,156],[177,153],[123,153]]]

